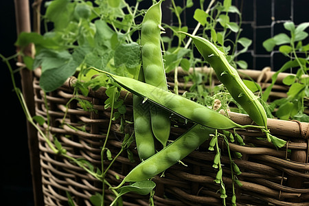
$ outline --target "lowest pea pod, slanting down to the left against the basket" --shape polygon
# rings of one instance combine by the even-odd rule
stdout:
[[[121,187],[126,182],[137,182],[150,179],[155,175],[165,171],[189,155],[193,150],[198,148],[204,141],[209,139],[210,134],[214,134],[212,128],[203,127],[196,124],[187,130],[186,133],[177,138],[172,144],[169,144],[152,157],[142,161],[124,178],[114,189]]]

